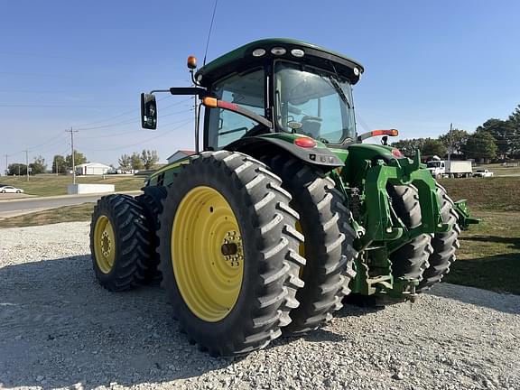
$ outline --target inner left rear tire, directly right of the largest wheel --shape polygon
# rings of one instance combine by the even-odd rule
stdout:
[[[292,322],[283,328],[286,335],[298,335],[324,325],[343,307],[341,301],[350,292],[348,283],[356,275],[357,252],[352,247],[356,235],[334,181],[286,155],[264,160],[291,193],[291,206],[300,213],[305,237],[301,248],[307,260],[301,272],[305,286],[296,293],[300,306],[291,311]]]

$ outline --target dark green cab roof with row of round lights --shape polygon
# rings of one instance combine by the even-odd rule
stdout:
[[[285,52],[283,54],[274,54],[272,53],[274,48],[283,48]],[[265,53],[255,57],[253,51],[259,49],[263,49]],[[292,54],[294,50],[302,51],[303,55],[301,57],[294,56]],[[200,68],[195,77],[199,80],[200,85],[208,87],[214,81],[228,74],[254,67],[256,64],[262,64],[265,60],[274,59],[298,61],[337,72],[342,77],[349,79],[351,84],[356,84],[361,74],[365,71],[359,62],[349,59],[336,51],[330,51],[308,42],[286,38],[269,38],[250,42],[234,51],[229,51],[227,54],[212,60]]]

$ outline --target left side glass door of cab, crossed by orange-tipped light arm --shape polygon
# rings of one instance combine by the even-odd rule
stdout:
[[[265,71],[263,68],[233,74],[210,88],[212,96],[235,103],[260,116],[265,116]],[[254,120],[221,108],[206,108],[204,150],[219,150],[245,135],[268,131]]]

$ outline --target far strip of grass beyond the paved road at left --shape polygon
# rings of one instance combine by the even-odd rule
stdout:
[[[67,186],[72,182],[71,175],[40,174],[31,176],[29,181],[23,176],[2,176],[0,183],[21,188],[29,195],[53,196],[67,195]],[[81,184],[115,184],[116,191],[139,190],[143,187],[143,176],[77,176],[76,182]]]

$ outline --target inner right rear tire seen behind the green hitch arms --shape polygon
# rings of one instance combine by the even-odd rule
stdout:
[[[392,199],[395,214],[401,218],[406,228],[420,226],[421,204],[417,189],[412,185],[388,185],[386,190]],[[422,274],[429,267],[428,259],[433,252],[431,240],[432,235],[422,234],[390,254],[392,274],[395,278],[422,280]]]

